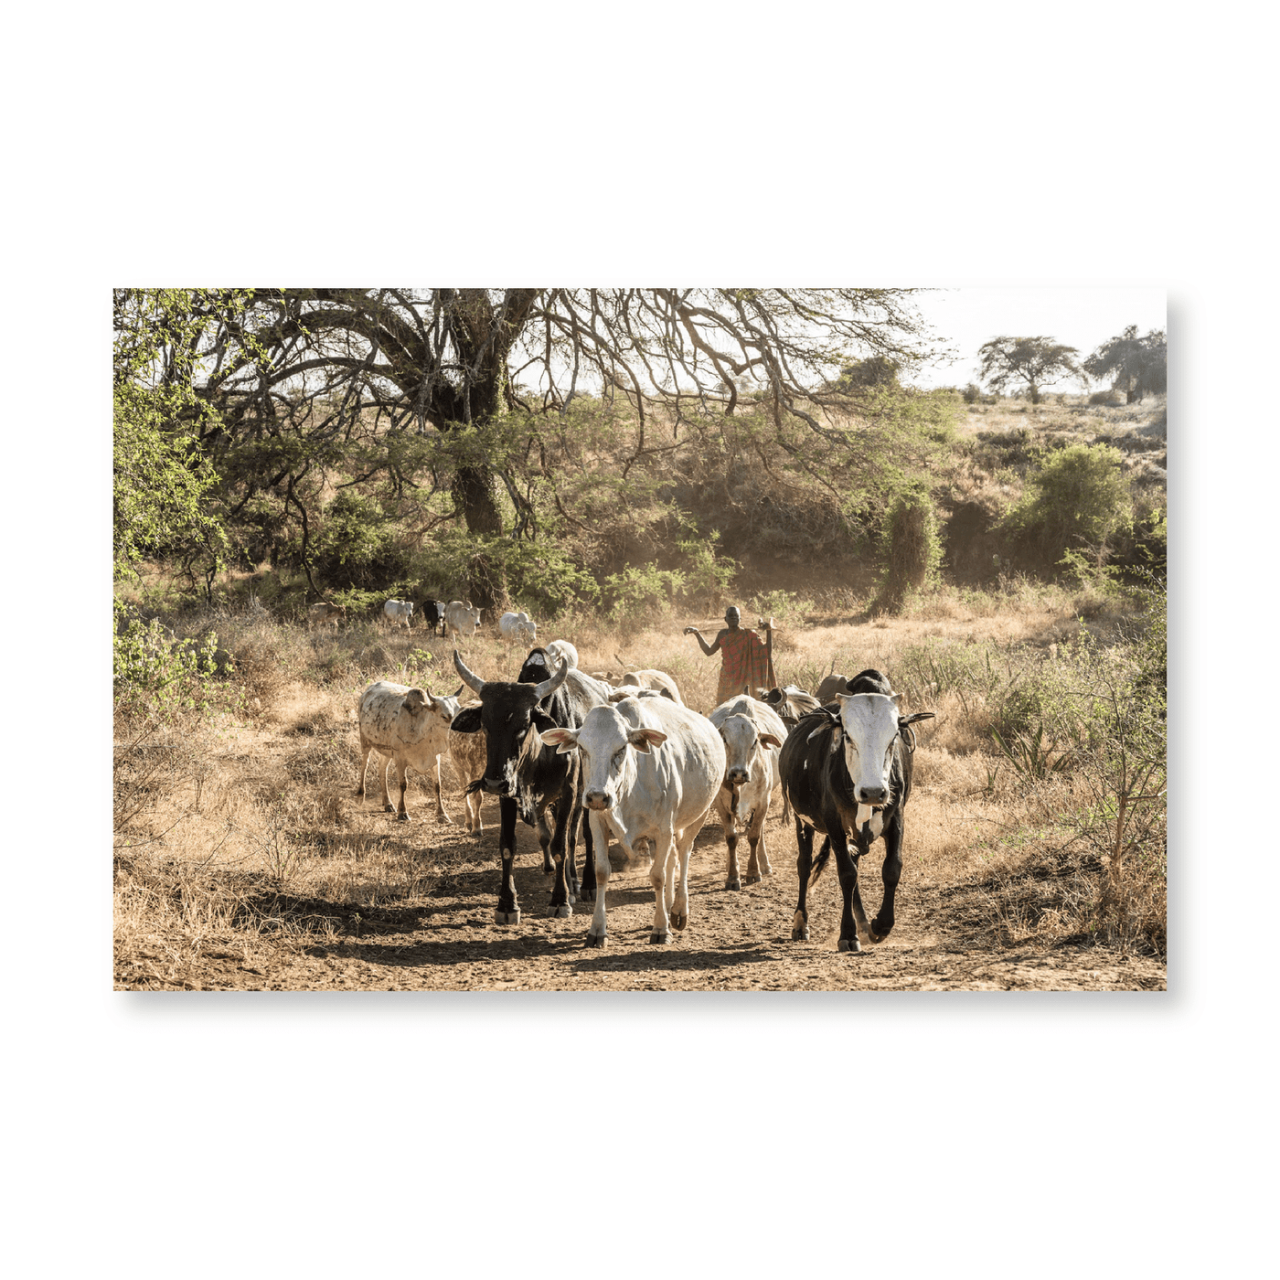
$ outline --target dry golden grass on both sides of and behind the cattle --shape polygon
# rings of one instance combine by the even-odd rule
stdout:
[[[1075,632],[1079,612],[1078,595],[1021,584],[992,595],[940,593],[895,618],[810,618],[774,637],[781,682],[813,689],[831,669],[879,667],[908,690],[910,709],[937,712],[919,732],[914,874],[946,892],[968,887],[970,916],[954,923],[995,945],[1097,937],[1103,867],[1068,845],[1044,788],[1032,795],[1007,771],[1000,774],[989,737],[998,690],[934,687],[919,675],[922,654],[1005,654],[1007,682],[1053,660],[1051,645]],[[572,639],[585,671],[617,672],[616,653],[667,671],[686,703],[708,712],[719,663],[681,634],[687,623],[705,634],[721,625],[669,614],[625,641],[596,620],[543,630],[545,641]],[[460,870],[451,860],[457,854],[433,847],[425,806],[413,823],[388,831],[355,797],[361,690],[390,678],[453,692],[451,644],[370,625],[308,634],[260,614],[188,617],[177,630],[209,627],[234,655],[238,710],[116,726],[116,974],[124,984],[180,984],[201,955],[236,956],[251,968],[271,948],[296,952],[361,931],[416,927]],[[524,655],[492,635],[460,649],[493,680],[515,678]],[[444,783],[445,805],[461,820],[448,763]],[[1135,863],[1125,872],[1117,883],[1128,895],[1128,937],[1162,946],[1164,868]]]

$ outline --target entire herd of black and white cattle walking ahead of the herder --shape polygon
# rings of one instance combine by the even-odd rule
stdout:
[[[392,613],[393,604],[406,604],[407,612]],[[387,603],[388,616],[406,623],[412,608],[407,602]],[[454,627],[460,616],[479,621],[479,611],[458,600],[439,613],[453,634],[474,634],[474,626]],[[516,621],[504,634],[536,637],[527,614],[506,618]],[[608,673],[580,671],[577,650],[567,640],[530,649],[513,681],[476,675],[456,648],[453,666],[462,685],[448,696],[389,681],[365,690],[358,708],[358,795],[365,795],[369,758],[376,753],[383,806],[402,822],[408,820],[407,768],[434,780],[438,819],[452,820],[440,796],[445,754],[465,785],[468,832],[484,829],[481,796],[497,796],[502,882],[495,923],[520,923],[512,877],[517,817],[538,832],[543,870],[554,877],[550,914],[568,916],[575,901],[594,902],[589,947],[604,946],[608,938],[609,840],[628,859],[646,841],[654,890],[649,941],[667,942],[671,929],[689,924],[689,859],[704,822],[712,813],[719,818],[728,851],[724,887],[737,890],[744,881],[754,883],[772,873],[764,820],[781,796],[783,820],[788,814],[795,818],[797,845],[800,896],[792,940],[809,937],[808,891],[832,852],[844,895],[840,950],[860,951],[888,936],[911,794],[911,724],[933,712],[900,714],[901,695],[879,671],[847,680],[828,676],[813,694],[795,686],[754,695],[744,690],[701,716],[684,704],[664,672],[631,671],[614,686],[600,678]],[[463,689],[476,695],[466,705],[460,701]],[[398,805],[388,792],[393,765]],[[737,861],[740,828],[750,850],[745,872]],[[815,831],[823,836],[817,858]],[[884,895],[879,913],[868,922],[858,891],[858,859],[877,838],[884,841]]]

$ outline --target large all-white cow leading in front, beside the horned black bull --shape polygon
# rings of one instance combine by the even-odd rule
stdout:
[[[649,881],[654,909],[650,942],[689,924],[689,854],[724,777],[724,744],[705,716],[664,698],[626,698],[593,707],[582,727],[541,731],[544,742],[579,751],[582,803],[595,850],[595,914],[586,945],[602,947],[609,881],[609,835],[627,858],[646,838],[653,846]],[[676,860],[680,888],[676,890]]]

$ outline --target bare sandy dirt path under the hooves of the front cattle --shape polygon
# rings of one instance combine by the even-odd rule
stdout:
[[[810,942],[791,941],[795,837],[771,814],[774,873],[741,891],[724,883],[724,841],[705,827],[690,863],[690,923],[667,945],[648,941],[653,891],[648,864],[622,861],[611,849],[609,945],[582,946],[590,905],[568,919],[547,915],[549,881],[534,833],[517,828],[518,925],[493,924],[498,890],[497,801],[485,804],[485,831],[431,820],[421,791],[412,822],[397,824],[372,809],[357,822],[379,841],[413,846],[451,870],[428,905],[355,908],[306,904],[337,918],[340,941],[271,945],[260,938],[211,943],[174,961],[163,948],[120,956],[116,989],[248,991],[1139,991],[1165,989],[1165,965],[1121,957],[1101,946],[992,950],[978,946],[966,919],[978,890],[943,883],[911,863],[908,813],[897,924],[890,938],[858,955],[836,948],[840,886],[835,870],[810,893]],[[434,808],[434,805],[433,805]],[[460,817],[458,804],[449,805]],[[745,841],[742,847],[745,849]],[[883,845],[861,868],[868,914],[881,896]],[[741,856],[741,855],[740,855]]]

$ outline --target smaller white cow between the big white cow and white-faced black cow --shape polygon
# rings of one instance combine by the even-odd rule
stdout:
[[[754,884],[762,876],[772,876],[765,846],[764,819],[769,813],[773,792],[782,786],[778,753],[787,740],[787,730],[772,707],[739,694],[721,703],[707,717],[724,740],[724,785],[716,795],[716,812],[724,828],[728,845],[728,867],[724,888],[741,888],[742,881]],[[746,876],[737,872],[737,827],[746,828],[751,858]]]

